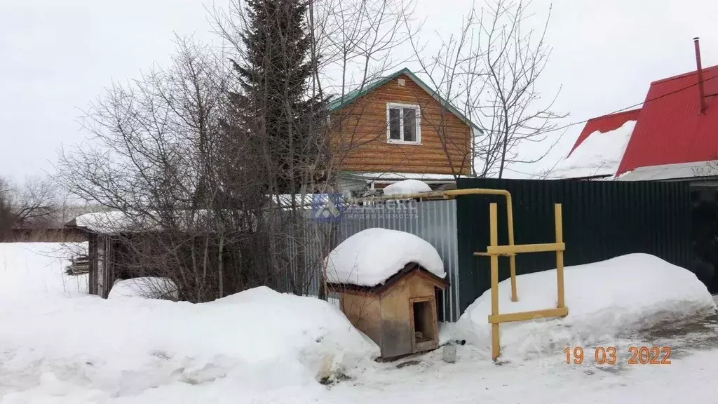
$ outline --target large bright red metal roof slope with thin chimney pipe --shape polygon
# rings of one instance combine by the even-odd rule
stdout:
[[[617,175],[651,165],[718,160],[718,65],[704,68],[703,79],[707,109],[701,115],[695,71],[651,83]]]

